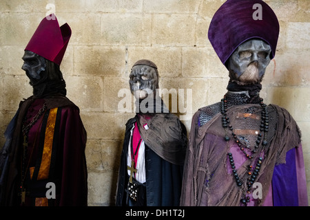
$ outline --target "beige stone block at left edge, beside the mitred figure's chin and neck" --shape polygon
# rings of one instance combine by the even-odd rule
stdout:
[[[16,111],[23,98],[32,96],[32,87],[27,76],[3,77],[3,109]]]

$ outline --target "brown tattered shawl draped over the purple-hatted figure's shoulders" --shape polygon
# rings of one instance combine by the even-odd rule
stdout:
[[[245,104],[227,109],[227,117],[245,112],[249,108],[259,108],[258,104]],[[273,168],[284,164],[287,151],[300,144],[300,130],[289,112],[277,105],[268,106],[269,118],[274,118],[274,124],[269,132],[269,144],[260,148],[264,152],[264,161],[260,167],[257,181],[264,186],[262,198],[266,198],[271,184]],[[242,190],[236,186],[231,173],[227,173],[227,153],[229,147],[224,139],[222,115],[218,113],[207,124],[198,126],[197,111],[192,120],[192,130],[189,134],[189,148],[185,159],[183,175],[183,191],[180,198],[181,206],[240,206]],[[245,127],[246,128],[246,127]],[[242,129],[239,127],[239,129]],[[247,129],[245,129],[247,130]],[[245,179],[249,160],[238,168],[240,179]],[[184,187],[186,186],[186,187]],[[258,200],[256,206],[262,206],[264,199]]]

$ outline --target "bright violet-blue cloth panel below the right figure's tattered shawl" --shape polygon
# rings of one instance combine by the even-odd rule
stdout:
[[[275,166],[272,177],[273,206],[298,206],[296,150],[287,152],[286,163]]]

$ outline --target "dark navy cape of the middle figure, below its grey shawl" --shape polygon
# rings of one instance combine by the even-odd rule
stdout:
[[[174,118],[174,120],[176,120],[176,118]],[[121,153],[121,164],[118,173],[116,206],[126,206],[127,195],[125,189],[127,188],[129,179],[127,175],[127,153],[130,141],[130,130],[132,129],[134,122],[136,122],[136,118],[128,120],[126,124],[123,150]],[[158,124],[155,125],[155,123],[156,122],[153,124],[154,128],[161,129],[161,127],[156,126]],[[169,124],[169,122],[167,123]],[[186,137],[186,129],[183,126],[183,129],[180,127],[176,127],[175,129],[183,133]],[[155,136],[157,137],[158,135]],[[179,144],[174,146],[176,148],[183,148],[184,144],[186,146],[186,141],[185,143],[180,142],[180,140],[177,142],[179,142]],[[152,145],[152,142],[145,141],[147,206],[178,206],[183,177],[183,165],[180,164],[183,164],[184,162],[184,154],[183,157],[176,160],[178,164],[172,164],[161,157],[161,155],[165,154],[163,153],[165,152],[163,146],[161,146],[161,149],[156,149],[155,151],[153,150],[154,147],[156,147],[155,144]],[[162,153],[159,153],[158,155],[156,151]],[[182,153],[179,155],[182,155]]]

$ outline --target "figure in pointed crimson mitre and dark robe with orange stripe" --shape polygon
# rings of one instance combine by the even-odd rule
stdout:
[[[33,94],[19,104],[0,153],[2,206],[87,206],[86,131],[60,65],[67,23],[44,18],[25,47]]]

